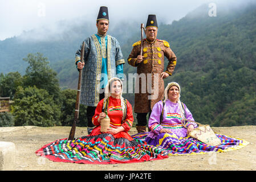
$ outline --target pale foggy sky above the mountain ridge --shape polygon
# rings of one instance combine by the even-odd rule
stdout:
[[[109,19],[111,27],[113,27],[123,21],[145,23],[148,14],[156,14],[159,23],[170,24],[173,20],[181,19],[204,3],[216,3],[218,12],[218,8],[223,4],[225,7],[231,7],[245,5],[248,2],[253,1],[0,0],[0,17],[2,17],[0,24],[1,27],[4,27],[0,29],[0,40],[19,35],[22,35],[23,39],[58,39],[60,35],[57,34],[62,34],[62,32],[72,28],[74,24],[83,21],[88,22],[88,28],[91,26],[95,28],[95,19],[100,6],[108,6]]]

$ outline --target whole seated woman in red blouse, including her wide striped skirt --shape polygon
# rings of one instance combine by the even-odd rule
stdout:
[[[36,155],[55,162],[85,164],[134,163],[168,158],[168,153],[155,146],[134,140],[128,133],[132,127],[132,106],[122,95],[123,83],[112,78],[105,88],[105,98],[96,107],[92,123],[96,125],[91,134],[74,140],[59,139],[43,146]],[[108,111],[110,127],[100,131],[101,119]]]

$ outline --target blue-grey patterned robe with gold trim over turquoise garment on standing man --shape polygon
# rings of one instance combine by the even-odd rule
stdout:
[[[123,76],[123,54],[119,42],[110,35],[94,34],[84,40],[84,69],[82,74],[80,103],[97,106],[100,88],[104,88],[112,77]],[[80,60],[81,48],[76,52],[76,63]]]

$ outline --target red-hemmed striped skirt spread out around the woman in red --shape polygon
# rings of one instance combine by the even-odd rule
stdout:
[[[142,140],[114,138],[107,133],[55,140],[36,151],[36,155],[54,162],[84,164],[138,163],[168,158],[168,152],[161,147],[150,146]]]

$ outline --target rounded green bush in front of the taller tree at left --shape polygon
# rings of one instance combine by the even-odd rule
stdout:
[[[60,106],[46,90],[18,86],[14,96],[15,126],[60,126]]]

